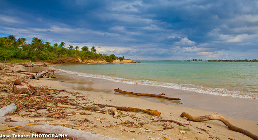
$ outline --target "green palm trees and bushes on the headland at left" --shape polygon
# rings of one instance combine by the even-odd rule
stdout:
[[[15,38],[13,35],[0,38],[0,61],[2,62],[26,62],[26,61],[50,61],[65,58],[81,58],[84,59],[104,59],[107,62],[113,60],[123,60],[124,57],[117,57],[114,54],[107,56],[106,54],[97,53],[96,47],[91,49],[87,46],[79,50],[78,46],[69,45],[61,42],[60,44],[44,42],[42,39],[34,37],[31,44],[26,43],[26,38]]]

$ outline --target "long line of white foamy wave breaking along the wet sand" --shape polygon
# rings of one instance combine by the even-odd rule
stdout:
[[[54,68],[56,69],[56,68]],[[176,83],[164,83],[164,82],[156,82],[151,80],[134,80],[134,79],[126,79],[126,78],[119,78],[119,77],[112,77],[100,74],[88,74],[82,72],[74,72],[69,70],[62,70],[57,69],[62,72],[68,74],[74,74],[81,77],[91,77],[91,78],[98,78],[98,79],[105,79],[114,82],[123,82],[127,84],[140,84],[140,85],[149,85],[149,86],[157,86],[157,87],[165,87],[165,88],[173,88],[173,89],[180,89],[180,90],[187,90],[193,91],[198,93],[204,94],[211,94],[217,96],[228,96],[228,97],[237,97],[237,98],[248,98],[248,99],[256,99],[258,98],[258,93],[249,92],[249,91],[232,91],[224,88],[210,88],[210,87],[203,87],[197,86],[192,84],[176,84]]]

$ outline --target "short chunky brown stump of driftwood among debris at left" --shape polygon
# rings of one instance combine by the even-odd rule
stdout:
[[[33,95],[36,92],[36,88],[32,85],[22,83],[19,79],[15,80],[13,84],[13,90],[16,94],[29,94]]]

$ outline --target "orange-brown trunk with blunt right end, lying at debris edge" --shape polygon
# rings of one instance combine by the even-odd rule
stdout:
[[[156,111],[156,110],[152,110],[152,109],[139,109],[139,108],[131,108],[131,107],[118,107],[118,106],[113,106],[113,105],[104,105],[104,104],[94,104],[94,105],[98,105],[98,106],[103,106],[103,107],[114,107],[117,108],[118,110],[121,111],[126,111],[126,112],[142,112],[142,113],[146,113],[146,114],[150,114],[152,116],[160,116],[160,112]]]

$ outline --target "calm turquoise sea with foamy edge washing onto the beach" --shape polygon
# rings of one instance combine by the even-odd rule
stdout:
[[[70,74],[219,96],[258,98],[256,62],[145,61],[137,64],[57,65]]]

